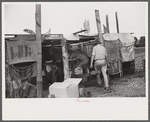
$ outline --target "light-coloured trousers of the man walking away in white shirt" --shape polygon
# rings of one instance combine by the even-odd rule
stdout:
[[[107,62],[106,60],[96,60],[94,63],[94,69],[97,75],[97,82],[101,84],[100,73],[102,72],[104,77],[105,87],[109,87],[108,84],[108,75],[107,75]]]

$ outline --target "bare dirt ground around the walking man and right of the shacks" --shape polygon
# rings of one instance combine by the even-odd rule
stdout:
[[[111,92],[105,93],[104,86],[97,86],[96,78],[88,81],[91,85],[86,86],[84,91],[90,91],[91,97],[145,97],[145,70],[142,62],[143,59],[145,59],[145,48],[136,48],[134,75],[124,75],[122,78],[111,78],[111,82],[109,83]],[[43,91],[43,97],[47,98],[48,94],[49,90],[45,89]]]

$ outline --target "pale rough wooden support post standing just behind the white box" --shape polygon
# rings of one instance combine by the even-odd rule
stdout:
[[[69,62],[68,62],[68,51],[67,51],[67,44],[66,39],[61,40],[62,44],[62,57],[63,57],[63,65],[64,65],[64,80],[69,78]]]

